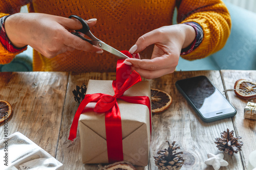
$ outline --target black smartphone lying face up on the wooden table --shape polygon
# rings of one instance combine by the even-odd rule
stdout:
[[[179,80],[175,85],[204,122],[237,114],[237,110],[205,76]]]

